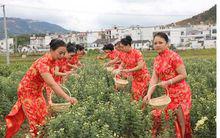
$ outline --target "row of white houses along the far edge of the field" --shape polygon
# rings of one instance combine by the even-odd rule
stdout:
[[[170,44],[177,49],[201,49],[216,47],[216,26],[215,25],[189,25],[177,26],[153,26],[141,27],[131,26],[128,28],[114,26],[110,29],[93,32],[78,32],[69,34],[47,34],[44,37],[31,36],[29,51],[47,51],[49,42],[53,38],[63,39],[65,42],[83,44],[87,49],[100,49],[107,43],[115,44],[126,35],[133,39],[133,47],[137,49],[150,49],[152,47],[153,35],[157,32],[165,32],[170,39]],[[9,39],[12,47],[13,39]],[[0,51],[4,51],[5,41],[0,41]],[[21,50],[22,51],[22,50]]]

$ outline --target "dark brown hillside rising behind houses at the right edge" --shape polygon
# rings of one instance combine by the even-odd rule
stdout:
[[[188,24],[198,25],[203,24],[216,24],[216,5],[203,13],[193,16],[182,21],[178,21],[175,24],[177,26],[186,26]]]

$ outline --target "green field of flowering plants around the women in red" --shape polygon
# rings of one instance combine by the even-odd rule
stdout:
[[[187,82],[192,91],[191,126],[193,137],[216,137],[216,49],[178,51],[184,60],[188,73]],[[113,76],[103,64],[96,60],[99,53],[88,51],[81,59],[85,67],[78,70],[78,79],[71,77],[65,86],[79,103],[70,110],[56,114],[48,124],[41,128],[48,137],[94,137],[94,138],[133,138],[151,137],[150,106],[141,110],[142,101],[130,100],[130,87],[114,92]],[[144,59],[152,73],[152,63],[157,55],[153,51],[144,51]],[[17,100],[16,89],[22,76],[31,63],[40,55],[30,55],[22,59],[21,55],[12,55],[11,64],[5,64],[4,55],[0,55],[0,137],[4,136],[4,116],[9,113]],[[157,89],[154,96],[162,95]],[[53,97],[55,102],[65,102]],[[165,127],[164,120],[162,125]],[[170,119],[172,124],[173,120]],[[170,125],[172,126],[172,125]],[[163,126],[162,126],[163,127]],[[16,137],[24,137],[27,123]],[[162,138],[173,135],[172,127],[162,131]]]

